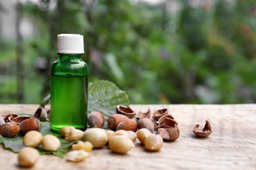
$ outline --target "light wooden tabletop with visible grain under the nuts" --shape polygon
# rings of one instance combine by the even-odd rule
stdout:
[[[27,112],[38,105],[0,105],[0,114]],[[167,108],[179,122],[177,141],[165,142],[160,152],[147,152],[142,144],[125,155],[107,146],[94,149],[86,160],[67,162],[43,155],[32,169],[253,169],[256,163],[256,105],[131,105],[136,111]],[[213,133],[198,138],[194,124],[209,120]],[[19,169],[17,154],[0,146],[0,169]]]

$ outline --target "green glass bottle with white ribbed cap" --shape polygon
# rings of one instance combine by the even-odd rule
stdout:
[[[87,127],[88,66],[81,59],[83,35],[57,36],[58,59],[51,66],[51,130]]]

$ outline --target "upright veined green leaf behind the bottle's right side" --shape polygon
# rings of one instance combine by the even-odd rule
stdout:
[[[88,113],[102,112],[105,117],[104,127],[108,127],[108,117],[116,113],[117,105],[129,105],[128,95],[112,82],[106,80],[92,82],[88,91]]]

